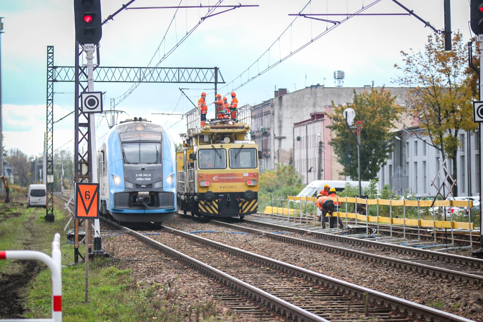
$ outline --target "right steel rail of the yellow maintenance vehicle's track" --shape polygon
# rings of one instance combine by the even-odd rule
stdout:
[[[266,226],[277,227],[277,228],[283,228],[283,229],[288,230],[288,231],[293,231],[293,232],[298,232],[298,233],[303,233],[303,234],[311,234],[313,236],[316,235],[316,236],[319,236],[319,237],[322,237],[322,238],[328,239],[328,240],[334,240],[334,241],[345,242],[345,243],[352,243],[352,244],[356,244],[356,245],[365,245],[365,246],[376,247],[376,248],[389,249],[389,250],[395,251],[395,252],[401,252],[401,253],[405,253],[405,254],[412,254],[412,255],[415,255],[415,256],[422,256],[422,257],[426,257],[426,258],[437,259],[437,260],[446,261],[446,262],[449,262],[449,263],[460,263],[460,264],[464,264],[464,265],[468,265],[468,266],[483,267],[483,259],[479,259],[479,258],[470,258],[470,257],[467,257],[467,256],[448,254],[448,253],[442,253],[442,252],[435,252],[435,251],[430,251],[430,250],[426,250],[426,249],[417,249],[417,248],[410,247],[410,246],[388,244],[388,243],[384,243],[382,241],[360,239],[360,238],[347,237],[347,236],[339,236],[339,235],[324,233],[324,232],[320,232],[320,231],[313,231],[313,230],[308,230],[308,229],[303,229],[303,228],[298,228],[298,227],[284,226],[284,225],[279,225],[279,224],[263,223],[263,222],[259,222],[259,221],[255,221],[255,220],[249,220],[249,219],[243,219],[242,222],[251,223],[251,224],[258,224],[258,225],[266,225]]]

